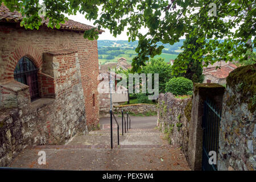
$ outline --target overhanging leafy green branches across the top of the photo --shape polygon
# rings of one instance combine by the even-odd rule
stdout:
[[[11,10],[18,10],[26,16],[21,25],[25,28],[38,29],[42,18],[38,15],[39,0],[0,0]],[[181,36],[198,36],[197,42],[203,48],[187,56],[195,60],[204,59],[206,65],[216,61],[244,61],[246,51],[255,47],[246,44],[255,36],[255,1],[254,0],[43,0],[46,5],[48,26],[59,28],[66,20],[64,13],[85,15],[94,20],[98,29],[108,28],[117,36],[127,27],[129,41],[139,40],[137,56],[133,58],[133,71],[141,71],[149,57],[160,55],[164,46],[156,43],[173,45]],[[217,7],[217,16],[209,16],[212,6]],[[101,7],[102,12],[100,12]],[[191,31],[191,25],[196,28]],[[148,28],[146,34],[139,29]],[[98,29],[84,32],[89,40],[98,38]],[[225,39],[221,42],[220,39]],[[193,47],[195,45],[188,44]],[[248,54],[251,54],[249,51]],[[207,55],[204,58],[202,55]],[[189,61],[186,59],[186,61]],[[175,67],[184,72],[184,67]]]

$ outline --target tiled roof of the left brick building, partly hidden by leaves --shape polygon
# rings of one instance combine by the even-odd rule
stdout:
[[[18,12],[14,11],[11,12],[6,6],[2,5],[0,7],[0,22],[5,22],[5,23],[19,23],[23,19],[23,16]],[[42,24],[44,26],[47,26],[48,20],[44,20]],[[79,23],[74,20],[69,19],[66,21],[64,24],[60,24],[60,29],[61,30],[68,30],[68,31],[85,31],[85,30],[90,30],[92,28],[95,28],[93,26],[89,26],[87,24]],[[100,30],[100,34],[104,32],[103,30]]]

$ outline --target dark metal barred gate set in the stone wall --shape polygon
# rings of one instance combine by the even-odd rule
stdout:
[[[203,115],[203,171],[217,171],[217,164],[209,163],[209,152],[215,151],[218,155],[218,133],[221,120],[221,110],[218,110],[213,101],[204,101]],[[216,159],[217,160],[217,159]]]

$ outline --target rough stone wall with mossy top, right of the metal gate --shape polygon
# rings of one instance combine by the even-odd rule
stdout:
[[[256,64],[227,78],[222,104],[218,170],[256,169]]]

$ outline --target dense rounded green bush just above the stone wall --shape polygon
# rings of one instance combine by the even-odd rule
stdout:
[[[171,92],[175,96],[191,94],[193,90],[193,82],[188,78],[174,77],[166,84],[166,92]]]

